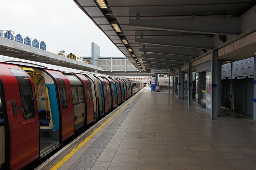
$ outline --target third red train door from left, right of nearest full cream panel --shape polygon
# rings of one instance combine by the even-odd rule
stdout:
[[[89,125],[97,119],[96,114],[93,113],[93,97],[92,97],[92,87],[90,81],[83,75],[83,74],[76,74],[76,76],[83,82],[84,86],[84,94],[85,94],[85,101],[86,101],[86,125]]]

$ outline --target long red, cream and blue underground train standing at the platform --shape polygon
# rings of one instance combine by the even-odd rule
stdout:
[[[0,55],[0,169],[49,154],[144,84]]]

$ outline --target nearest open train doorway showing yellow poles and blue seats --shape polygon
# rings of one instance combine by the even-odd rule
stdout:
[[[54,100],[51,96],[53,89],[46,84],[52,84],[53,80],[41,70],[36,68],[21,67],[34,82],[36,104],[40,127],[40,156],[50,151],[60,143],[59,112],[51,106]],[[56,96],[56,95],[55,95]]]

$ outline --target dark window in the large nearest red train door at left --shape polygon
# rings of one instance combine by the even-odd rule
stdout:
[[[15,75],[20,86],[20,100],[24,119],[35,117],[34,97],[32,92],[31,81],[28,76],[21,70],[9,69]]]

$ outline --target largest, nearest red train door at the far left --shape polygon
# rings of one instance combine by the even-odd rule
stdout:
[[[8,117],[4,124],[8,125],[5,128],[9,131],[5,135],[8,141],[5,148],[5,168],[20,169],[39,158],[35,90],[30,76],[18,66],[1,64],[0,79],[4,91],[1,103],[2,100],[6,103],[5,114]]]

